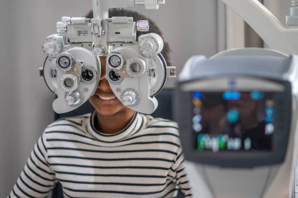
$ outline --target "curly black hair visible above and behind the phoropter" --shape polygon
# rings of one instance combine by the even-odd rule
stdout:
[[[134,21],[138,21],[138,20],[148,20],[149,21],[149,31],[148,32],[137,32],[136,36],[140,36],[144,33],[157,33],[158,35],[160,35],[162,37],[162,39],[164,40],[164,48],[161,51],[161,53],[163,54],[167,65],[170,66],[170,57],[169,57],[169,53],[171,52],[171,49],[168,45],[168,42],[165,41],[163,33],[161,32],[161,30],[159,29],[159,27],[156,25],[155,22],[153,22],[151,19],[149,19],[148,17],[141,15],[137,12],[133,12],[130,10],[125,10],[125,9],[121,9],[118,10],[116,8],[110,9],[109,10],[109,16],[128,16],[128,17],[133,17]],[[93,18],[93,11],[90,10],[89,13],[86,15],[87,18]]]

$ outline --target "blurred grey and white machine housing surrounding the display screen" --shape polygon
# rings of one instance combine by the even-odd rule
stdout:
[[[179,76],[175,115],[180,127],[187,170],[191,172],[189,179],[195,198],[292,196],[292,179],[297,159],[294,144],[297,142],[298,130],[297,61],[296,55],[288,57],[271,49],[239,49],[222,52],[209,60],[204,56],[194,56],[186,62]],[[186,104],[190,97],[187,93],[202,88],[226,90],[229,88],[227,82],[230,78],[239,82],[234,87],[236,90],[254,90],[258,88],[258,84],[262,89],[283,85],[284,97],[280,97],[282,103],[278,110],[282,117],[275,115],[275,119],[283,121],[279,122],[279,130],[274,134],[272,151],[212,153],[197,151],[189,146],[191,127],[186,120],[189,119],[187,116],[191,110]]]

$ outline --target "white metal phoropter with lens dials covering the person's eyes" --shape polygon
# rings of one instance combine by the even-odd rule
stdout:
[[[165,0],[93,0],[93,18],[63,16],[57,32],[42,43],[47,56],[39,68],[48,88],[56,94],[53,109],[66,113],[93,96],[101,76],[99,56],[107,56],[106,78],[115,96],[137,112],[151,114],[157,108],[154,97],[175,67],[167,66],[160,53],[163,40],[149,31],[147,20],[109,17],[109,8],[145,5],[158,9]]]

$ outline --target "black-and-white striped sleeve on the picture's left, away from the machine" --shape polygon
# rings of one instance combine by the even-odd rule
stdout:
[[[39,137],[9,198],[44,198],[57,180],[47,157],[45,133]]]

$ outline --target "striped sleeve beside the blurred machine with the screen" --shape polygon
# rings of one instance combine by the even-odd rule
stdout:
[[[186,168],[184,164],[184,154],[182,147],[177,151],[177,157],[172,166],[175,170],[175,180],[178,189],[185,195],[186,198],[192,198],[190,183],[187,178]]]

